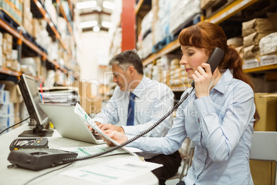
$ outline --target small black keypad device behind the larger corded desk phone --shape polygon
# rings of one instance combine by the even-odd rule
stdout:
[[[47,137],[14,139],[10,144],[10,151],[27,148],[48,148]]]

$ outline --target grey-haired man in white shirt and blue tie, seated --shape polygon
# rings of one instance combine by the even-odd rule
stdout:
[[[143,64],[134,50],[116,55],[110,61],[113,81],[118,85],[110,101],[93,121],[101,130],[116,130],[126,135],[138,135],[150,128],[173,107],[174,94],[165,84],[153,81],[143,75]],[[172,126],[172,116],[167,117],[145,137],[164,137]],[[92,129],[92,128],[90,128]],[[147,162],[163,164],[152,171],[165,184],[181,165],[181,157],[176,150],[169,155],[141,153]]]

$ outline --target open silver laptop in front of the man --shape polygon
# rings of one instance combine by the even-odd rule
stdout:
[[[85,121],[74,113],[74,106],[57,104],[39,104],[39,106],[62,137],[92,144],[105,143],[102,137],[93,135]]]

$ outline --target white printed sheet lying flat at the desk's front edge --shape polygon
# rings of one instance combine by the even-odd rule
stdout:
[[[122,184],[127,179],[142,175],[161,166],[163,165],[152,162],[119,158],[76,168],[60,174],[103,185]]]

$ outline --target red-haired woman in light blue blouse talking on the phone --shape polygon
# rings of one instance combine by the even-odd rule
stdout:
[[[213,23],[189,26],[178,40],[183,52],[180,64],[185,66],[187,77],[194,80],[195,90],[189,88],[183,93],[185,96],[192,91],[178,107],[165,137],[140,137],[127,146],[170,154],[189,137],[196,145],[194,159],[187,176],[178,184],[253,184],[249,154],[258,114],[240,55],[227,46],[223,29]],[[212,74],[206,61],[214,48],[221,48],[225,55]],[[119,143],[134,137],[112,130],[105,133]]]

